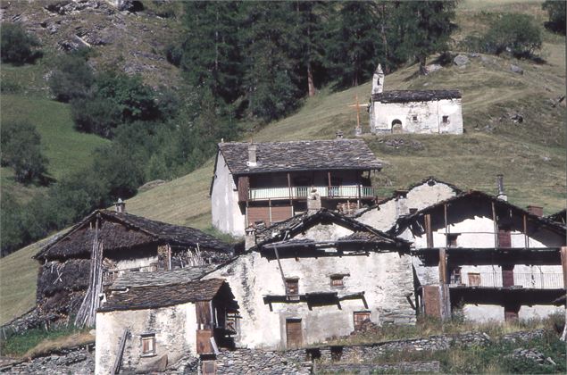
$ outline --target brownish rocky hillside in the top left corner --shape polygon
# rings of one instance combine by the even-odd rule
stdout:
[[[90,59],[95,69],[112,66],[139,73],[154,87],[175,85],[179,69],[162,51],[181,30],[175,22],[138,11],[143,3],[132,0],[12,1],[3,2],[0,21],[21,23],[47,48],[96,49]]]

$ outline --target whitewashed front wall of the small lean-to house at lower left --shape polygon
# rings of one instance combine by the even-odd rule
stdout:
[[[122,368],[142,371],[144,365],[167,355],[175,362],[184,354],[196,355],[195,304],[177,304],[146,310],[96,313],[97,375],[112,373],[124,329],[130,335],[122,357]],[[103,333],[104,332],[104,333]],[[142,354],[142,335],[155,335],[155,354]]]

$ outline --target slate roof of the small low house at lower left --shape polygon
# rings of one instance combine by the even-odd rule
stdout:
[[[126,292],[113,292],[98,311],[151,309],[188,302],[210,301],[223,286],[229,288],[229,284],[224,279],[206,279],[184,284],[132,287]]]

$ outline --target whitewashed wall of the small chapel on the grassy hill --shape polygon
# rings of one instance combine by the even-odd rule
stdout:
[[[371,131],[390,132],[393,121],[401,121],[404,133],[463,134],[461,99],[443,99],[429,102],[371,104]],[[413,116],[417,120],[413,121]],[[443,116],[449,122],[443,123]]]

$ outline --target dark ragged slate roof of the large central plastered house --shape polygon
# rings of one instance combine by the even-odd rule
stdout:
[[[354,231],[354,233],[349,236],[338,238],[336,241],[337,243],[367,242],[389,247],[409,246],[409,243],[404,239],[392,237],[378,229],[373,229],[360,221],[355,221],[354,219],[339,212],[321,209],[318,212],[305,212],[300,215],[293,216],[286,221],[275,223],[266,229],[258,229],[256,231],[257,245],[255,248],[268,246],[268,244],[272,243],[283,243],[286,241],[291,244],[296,244],[297,246],[311,245],[312,243],[309,242],[311,240],[301,240],[303,242],[298,242],[298,240],[293,237],[297,233],[302,233],[316,224],[331,222]],[[329,241],[323,240],[322,242]]]

